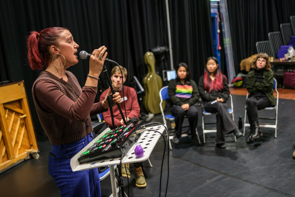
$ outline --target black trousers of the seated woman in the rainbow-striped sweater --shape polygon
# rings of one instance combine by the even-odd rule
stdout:
[[[191,127],[191,136],[196,136],[196,127],[198,124],[198,110],[197,107],[192,105],[188,110],[183,110],[181,106],[174,105],[170,108],[171,114],[175,117],[175,132],[181,137],[182,123],[184,116],[189,119],[189,126]]]

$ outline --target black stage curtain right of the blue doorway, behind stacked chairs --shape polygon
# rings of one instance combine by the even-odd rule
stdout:
[[[281,31],[295,15],[294,0],[227,0],[236,73],[240,61],[257,53],[255,43],[268,40],[268,32]]]

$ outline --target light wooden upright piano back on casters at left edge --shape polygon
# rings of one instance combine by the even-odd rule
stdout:
[[[38,152],[24,81],[1,85],[0,172]]]

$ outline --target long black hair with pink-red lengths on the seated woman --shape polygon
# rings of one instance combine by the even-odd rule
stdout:
[[[207,58],[206,64],[210,59],[213,59],[215,61],[215,63],[218,64],[218,60],[214,56]],[[207,70],[207,67],[205,66],[205,70],[204,70],[204,89],[207,92],[211,92],[213,89],[215,89],[216,91],[219,91],[219,90],[223,89],[222,76],[224,76],[225,78],[226,78],[226,76],[221,73],[221,70],[220,70],[219,66],[215,70],[214,75],[215,75],[215,80],[212,81],[211,78],[210,78],[210,74],[209,74],[209,72]]]

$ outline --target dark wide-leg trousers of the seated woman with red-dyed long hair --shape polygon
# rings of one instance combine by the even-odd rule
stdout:
[[[204,104],[204,109],[210,113],[216,114],[216,144],[224,144],[225,143],[225,134],[230,133],[231,131],[238,129],[234,121],[232,120],[232,116],[227,110],[227,104],[224,102],[215,102],[211,104],[211,102],[207,102]]]

